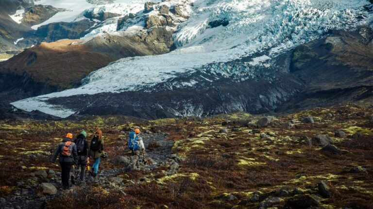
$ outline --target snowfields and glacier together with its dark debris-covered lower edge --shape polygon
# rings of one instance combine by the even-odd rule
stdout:
[[[117,60],[89,74],[78,88],[12,104],[23,110],[40,110],[60,117],[76,112],[92,114],[98,109],[107,114],[150,118],[202,116],[228,111],[271,111],[302,90],[302,78],[283,75],[291,71],[294,48],[336,35],[332,32],[335,30],[358,30],[369,25],[372,17],[372,7],[367,0],[154,2],[148,5],[149,11],[144,11],[147,5],[144,9],[143,0],[35,1],[68,10],[34,25],[33,29],[52,22],[77,22],[86,19],[87,13],[116,14],[107,20],[97,21],[94,29],[81,37],[83,42],[105,33],[139,33],[146,30],[152,15],[157,16],[154,22],[162,25],[162,21],[167,21],[167,17],[160,15],[162,8],[170,8],[175,24],[166,27],[175,31],[173,43],[176,49],[162,55]],[[136,17],[125,20],[119,27],[120,18],[129,14],[136,14]],[[273,88],[254,90],[255,85]],[[228,87],[234,87],[232,90],[236,91],[221,90]],[[224,93],[216,93],[216,99],[208,100],[214,97],[211,95],[214,90]],[[237,91],[243,92],[235,95]],[[179,99],[168,98],[176,94]],[[136,98],[133,98],[135,95]],[[207,98],[208,102],[199,102],[197,98]],[[144,105],[142,101],[149,104]],[[106,111],[113,107],[116,111]],[[129,110],[119,110],[123,108]],[[145,110],[160,110],[162,114],[137,115]]]

